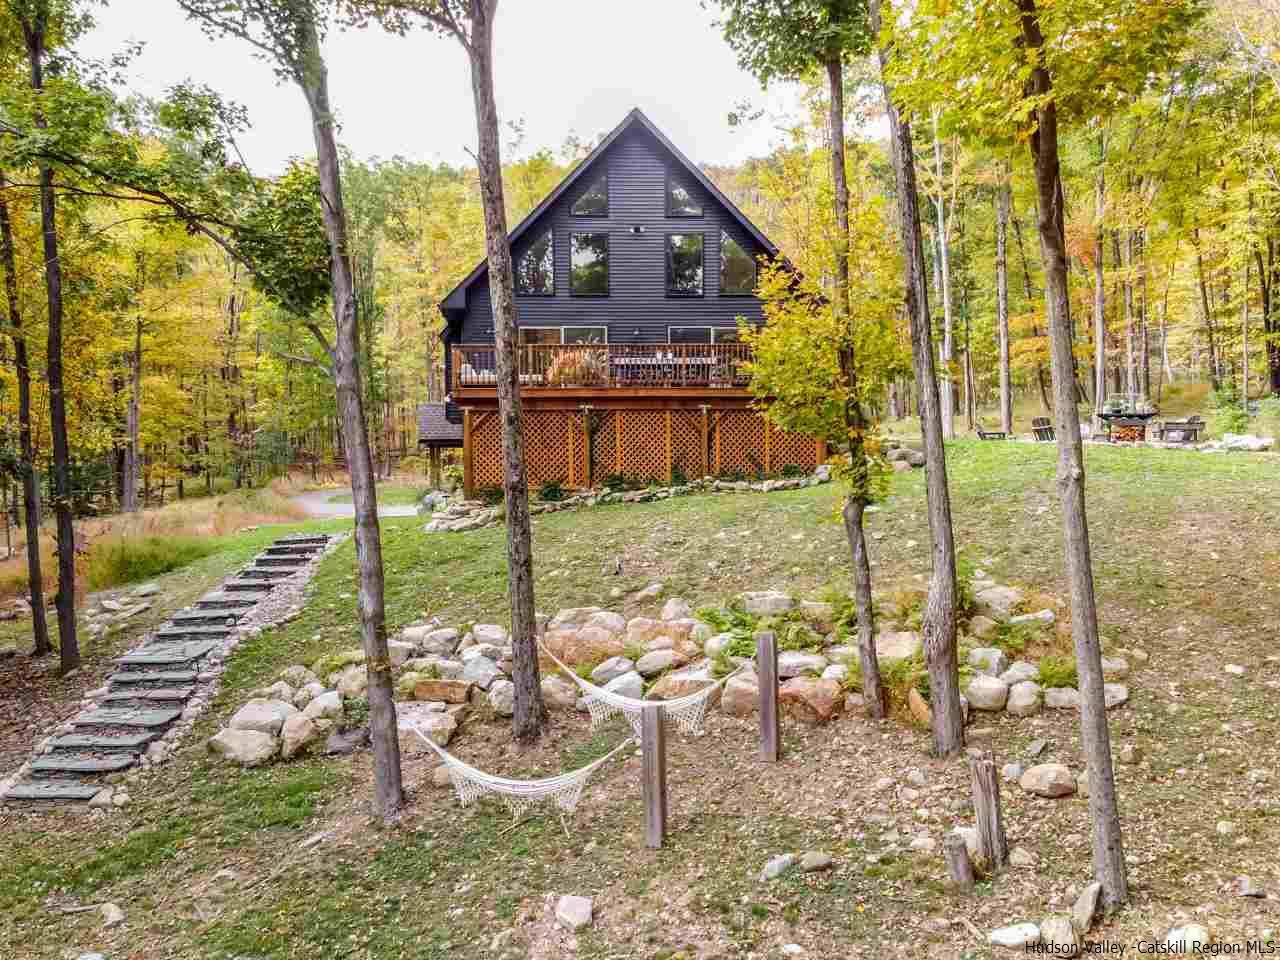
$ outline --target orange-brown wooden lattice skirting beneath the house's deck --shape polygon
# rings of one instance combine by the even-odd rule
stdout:
[[[463,429],[468,489],[502,484],[498,413],[467,411]],[[746,408],[526,410],[524,435],[530,486],[589,486],[611,475],[659,484],[708,474],[754,477],[812,471],[826,456],[812,436],[778,430]]]

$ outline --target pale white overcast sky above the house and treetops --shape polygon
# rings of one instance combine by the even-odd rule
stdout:
[[[764,95],[713,19],[698,0],[504,0],[495,33],[499,120],[525,123],[529,154],[558,148],[571,132],[591,140],[639,106],[695,163],[764,154],[781,140],[776,124],[767,116],[733,129],[727,114],[748,100],[778,115],[796,91]],[[113,0],[81,49],[106,56],[131,40],[145,44],[131,70],[134,91],[159,95],[191,79],[248,108],[253,129],[242,147],[255,173],[312,152],[302,95],[279,86],[248,45],[209,40],[170,0]],[[333,33],[326,59],[340,138],[358,156],[470,161],[475,114],[456,41]]]

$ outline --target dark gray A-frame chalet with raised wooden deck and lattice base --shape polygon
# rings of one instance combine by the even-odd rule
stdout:
[[[751,408],[739,323],[777,247],[640,110],[511,232],[532,485],[813,468],[826,452]],[[481,261],[440,302],[466,488],[502,483]]]

